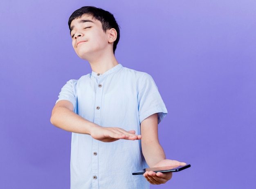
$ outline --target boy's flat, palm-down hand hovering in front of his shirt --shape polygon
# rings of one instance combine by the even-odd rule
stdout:
[[[119,139],[139,140],[141,135],[135,135],[135,131],[126,131],[119,127],[93,127],[90,135],[102,142],[114,142]]]

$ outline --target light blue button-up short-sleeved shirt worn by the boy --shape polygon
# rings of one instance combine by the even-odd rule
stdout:
[[[69,100],[75,113],[102,127],[137,134],[145,118],[158,113],[160,122],[167,114],[152,77],[121,64],[103,74],[92,71],[68,81],[59,100]],[[140,140],[101,142],[72,133],[71,189],[148,189],[149,182],[142,175],[132,175],[145,167]]]

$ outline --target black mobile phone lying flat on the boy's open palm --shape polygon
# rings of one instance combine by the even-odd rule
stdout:
[[[177,172],[177,171],[182,171],[184,169],[187,169],[191,167],[190,164],[186,164],[184,166],[166,166],[166,167],[151,167],[151,168],[146,168],[146,169],[142,169],[139,171],[136,171],[134,173],[132,173],[132,175],[143,175],[146,171],[154,171],[155,173],[157,172],[161,172],[161,173],[168,173],[168,172]]]

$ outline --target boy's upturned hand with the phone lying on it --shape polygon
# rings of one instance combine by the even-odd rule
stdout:
[[[182,166],[182,165],[186,165],[186,163],[184,162],[179,162],[176,160],[162,160],[160,162],[158,162],[156,165],[154,165],[153,167],[166,167],[166,166]],[[160,185],[160,184],[164,184],[166,183],[168,180],[170,180],[172,178],[173,173],[169,172],[169,173],[155,173],[154,171],[146,171],[143,176],[146,178],[146,180],[148,180],[148,182],[150,182],[150,184],[152,185]]]

